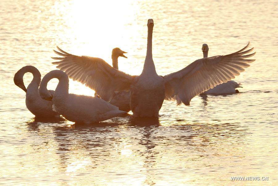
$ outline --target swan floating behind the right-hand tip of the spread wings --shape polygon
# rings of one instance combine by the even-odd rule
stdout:
[[[203,51],[203,57],[208,57],[208,45],[203,44],[202,46]],[[233,93],[239,93],[239,91],[236,88],[241,87],[241,83],[237,83],[233,80],[228,81],[226,83],[218,84],[212,89],[208,89],[207,91],[203,92],[204,94],[233,94]],[[242,88],[242,87],[241,87]]]

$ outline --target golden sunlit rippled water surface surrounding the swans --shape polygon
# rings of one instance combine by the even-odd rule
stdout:
[[[277,1],[0,1],[0,183],[4,185],[278,185]],[[113,118],[94,125],[38,120],[13,83],[17,70],[55,69],[53,49],[100,57],[139,75],[147,19],[154,19],[159,75],[248,41],[256,59],[240,93],[165,101],[159,119]],[[32,79],[24,76],[25,84]],[[52,80],[49,89],[55,89]],[[70,93],[94,91],[70,81]],[[132,114],[132,113],[130,113]],[[231,181],[231,176],[268,181]]]

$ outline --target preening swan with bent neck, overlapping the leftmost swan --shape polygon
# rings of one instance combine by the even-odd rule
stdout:
[[[54,96],[46,88],[48,81],[53,78],[59,80]],[[55,110],[73,122],[96,123],[126,113],[99,97],[70,94],[69,77],[61,70],[50,71],[43,77],[39,93],[43,99],[53,100]]]

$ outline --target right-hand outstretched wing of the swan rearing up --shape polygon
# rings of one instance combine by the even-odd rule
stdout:
[[[164,76],[165,99],[174,99],[177,105],[190,105],[191,99],[196,95],[234,79],[244,68],[250,66],[248,63],[255,61],[245,59],[255,55],[244,55],[254,49],[246,50],[248,46],[249,43],[242,50],[232,54],[198,59],[182,70]]]

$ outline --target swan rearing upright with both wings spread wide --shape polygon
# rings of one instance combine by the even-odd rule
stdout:
[[[148,20],[147,26],[147,54],[139,76],[119,71],[104,60],[95,61],[94,58],[72,55],[63,50],[59,54],[63,58],[54,58],[61,60],[54,64],[73,80],[94,89],[104,100],[110,101],[115,91],[130,90],[133,116],[158,117],[163,100],[176,100],[177,105],[189,106],[193,97],[234,79],[250,66],[248,63],[255,61],[245,59],[255,55],[247,54],[254,49],[246,50],[248,43],[232,54],[197,59],[177,72],[158,76],[152,58],[153,19]]]

